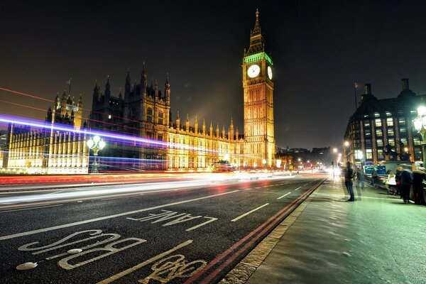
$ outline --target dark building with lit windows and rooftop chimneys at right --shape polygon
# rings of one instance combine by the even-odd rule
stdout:
[[[401,80],[398,97],[377,99],[365,84],[361,103],[349,118],[344,134],[344,158],[352,163],[376,164],[383,160],[422,160],[422,138],[414,127],[417,108],[426,95],[410,90]]]

